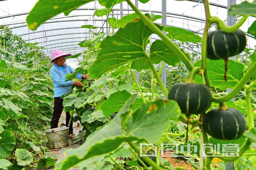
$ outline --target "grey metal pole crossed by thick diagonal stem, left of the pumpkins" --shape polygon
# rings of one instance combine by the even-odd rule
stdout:
[[[162,26],[166,26],[166,0],[162,0]],[[164,34],[166,34],[165,31],[163,31]],[[166,86],[166,63],[164,63],[164,68],[162,70],[162,74],[161,74],[161,78],[162,81],[164,83],[164,86]],[[162,91],[162,94],[164,94],[164,92]],[[166,97],[163,95],[163,99],[166,100]]]

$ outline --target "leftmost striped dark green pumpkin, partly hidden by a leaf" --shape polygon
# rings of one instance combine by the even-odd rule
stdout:
[[[206,112],[211,105],[212,94],[203,84],[178,83],[170,89],[168,99],[175,100],[181,112],[188,116]]]

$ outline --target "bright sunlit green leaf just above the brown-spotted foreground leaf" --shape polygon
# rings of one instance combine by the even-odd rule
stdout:
[[[112,113],[118,112],[130,96],[131,94],[126,90],[115,92],[109,96],[108,100],[104,101],[100,109],[102,109],[105,116],[110,116]]]

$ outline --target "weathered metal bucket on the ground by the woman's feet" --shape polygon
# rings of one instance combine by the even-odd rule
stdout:
[[[50,148],[62,148],[68,145],[69,127],[53,128],[45,131]]]

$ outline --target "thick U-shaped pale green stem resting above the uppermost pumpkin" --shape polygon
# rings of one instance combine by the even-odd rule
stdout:
[[[227,26],[226,24],[224,24],[224,22],[218,18],[217,16],[212,16],[209,19],[209,22],[212,23],[216,23],[221,30],[223,30],[224,32],[235,32],[236,30],[238,30],[240,28],[240,26],[242,26],[242,24],[244,24],[244,22],[247,20],[248,16],[245,15],[241,18],[240,21],[238,21],[235,25],[232,26]]]

